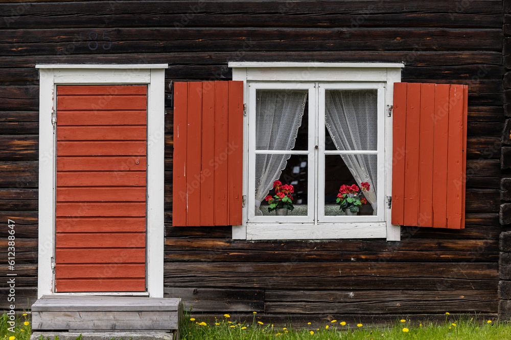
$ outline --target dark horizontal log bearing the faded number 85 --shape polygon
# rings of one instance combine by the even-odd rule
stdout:
[[[178,36],[190,31],[190,34]],[[101,31],[100,31],[101,32]],[[502,29],[468,30],[468,29],[196,29],[196,30],[132,30],[135,38],[148,35],[162,37],[151,40],[121,40],[113,36],[108,39],[98,39],[99,46],[108,46],[109,53],[137,53],[141,49],[147,53],[157,53],[161,50],[190,51],[253,51],[281,50],[306,51],[311,48],[321,50],[378,50],[385,45],[387,50],[413,50],[420,46],[421,50],[502,50]],[[97,33],[97,32],[96,32]],[[107,33],[111,34],[111,33]],[[124,33],[123,33],[124,34]],[[136,37],[138,36],[138,37]],[[169,38],[172,38],[169,40]],[[97,54],[101,48],[90,48],[90,40],[77,42],[45,42],[22,43],[20,45],[0,45],[0,53],[4,56],[20,56],[34,54]],[[286,42],[286,43],[283,43]],[[12,48],[14,46],[14,48]],[[19,46],[19,47],[18,47]],[[505,43],[504,43],[504,48]],[[104,52],[104,51],[103,51]]]

